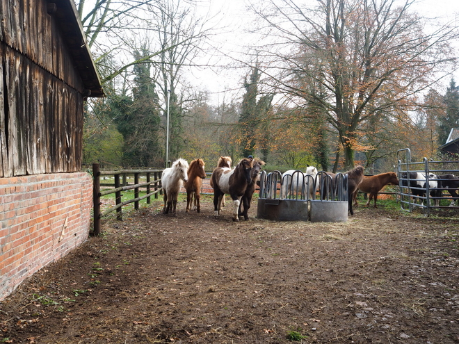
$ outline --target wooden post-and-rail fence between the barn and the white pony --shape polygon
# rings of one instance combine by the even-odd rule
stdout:
[[[116,218],[122,220],[122,207],[134,202],[134,208],[138,210],[138,202],[142,199],[147,199],[147,204],[150,204],[150,197],[154,195],[154,198],[158,198],[158,193],[161,191],[161,174],[163,170],[117,170],[117,171],[101,171],[99,170],[99,164],[92,164],[92,176],[94,177],[94,188],[93,188],[93,199],[94,199],[94,235],[100,235],[100,219],[116,211]],[[134,174],[134,184],[127,183],[127,175]],[[151,177],[153,174],[153,181]],[[145,183],[139,183],[140,175],[145,175],[147,181]],[[101,176],[113,176],[114,183],[101,183]],[[120,181],[122,177],[122,182]],[[111,187],[113,189],[104,190],[101,192],[101,186]],[[146,188],[147,193],[142,197],[139,197],[139,189]],[[153,188],[153,191],[152,191]],[[121,192],[125,190],[134,189],[134,198],[128,199],[127,201],[121,202]],[[107,209],[106,211],[100,211],[101,197],[105,195],[115,194],[115,206]]]

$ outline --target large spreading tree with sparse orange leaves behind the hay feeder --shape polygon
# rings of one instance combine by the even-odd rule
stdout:
[[[277,38],[264,50],[266,65],[275,67],[264,71],[290,101],[324,109],[339,134],[346,169],[353,167],[362,122],[414,110],[421,92],[456,60],[449,47],[456,27],[427,32],[425,20],[410,11],[414,2],[318,0],[306,8],[269,0],[263,9],[252,6]],[[316,97],[310,84],[326,97]]]

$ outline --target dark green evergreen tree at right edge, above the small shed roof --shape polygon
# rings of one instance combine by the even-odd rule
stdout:
[[[440,117],[438,124],[438,142],[444,145],[448,139],[452,128],[459,126],[459,87],[456,81],[451,79],[446,94],[443,97],[443,103],[446,108],[444,117]]]

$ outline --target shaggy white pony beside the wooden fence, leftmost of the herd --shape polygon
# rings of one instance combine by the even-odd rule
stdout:
[[[161,184],[164,193],[163,214],[168,214],[172,208],[172,214],[176,215],[177,198],[184,183],[188,181],[188,163],[185,159],[179,158],[171,167],[165,168],[161,176]]]

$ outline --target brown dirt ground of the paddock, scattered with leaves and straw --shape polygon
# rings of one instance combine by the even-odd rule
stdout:
[[[0,304],[5,343],[459,343],[459,225],[356,208],[346,223],[159,213],[104,235]],[[289,337],[289,338],[288,338]]]

